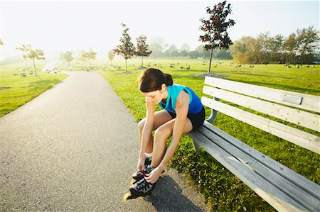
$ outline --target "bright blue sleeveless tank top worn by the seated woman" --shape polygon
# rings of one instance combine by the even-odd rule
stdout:
[[[168,87],[168,98],[166,99],[166,104],[160,101],[159,106],[164,108],[166,111],[176,113],[176,98],[178,97],[178,94],[180,94],[181,90],[187,91],[190,96],[188,113],[199,113],[203,107],[201,100],[193,90],[180,84],[173,84]]]

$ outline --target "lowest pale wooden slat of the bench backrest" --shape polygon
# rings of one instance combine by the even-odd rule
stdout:
[[[228,104],[223,104],[219,101],[215,101],[214,99],[209,99],[206,96],[203,96],[201,101],[203,105],[213,108],[215,111],[220,111],[221,113],[225,113],[233,118],[238,118],[240,121],[249,123],[250,125],[265,130],[272,135],[277,135],[279,138],[283,138],[294,144],[302,146],[307,150],[320,154],[320,138],[316,135],[257,116]]]

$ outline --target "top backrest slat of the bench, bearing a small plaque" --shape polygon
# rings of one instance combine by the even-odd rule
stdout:
[[[258,99],[274,101],[279,104],[320,113],[320,96],[301,94],[293,91],[271,89],[267,87],[260,87],[257,85],[245,84],[242,82],[233,82],[230,80],[219,79],[215,77],[206,77],[205,84],[229,91],[235,91],[240,94],[253,96]]]

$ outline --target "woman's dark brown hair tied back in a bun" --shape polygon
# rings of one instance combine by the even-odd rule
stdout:
[[[174,84],[170,74],[164,74],[159,69],[146,69],[139,77],[139,90],[151,92],[161,90],[161,85],[171,86]]]

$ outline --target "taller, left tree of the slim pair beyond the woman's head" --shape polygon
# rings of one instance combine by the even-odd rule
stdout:
[[[131,41],[131,37],[128,34],[129,28],[124,24],[121,23],[121,26],[124,28],[122,32],[122,37],[120,38],[120,45],[117,46],[113,51],[115,54],[124,57],[126,60],[126,72],[128,71],[127,68],[127,60],[134,56],[135,48]]]

